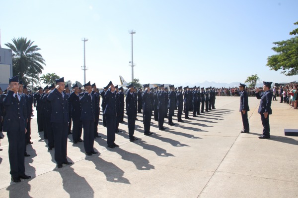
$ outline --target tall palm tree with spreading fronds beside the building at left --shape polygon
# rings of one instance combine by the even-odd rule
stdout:
[[[13,76],[18,75],[20,80],[25,84],[39,84],[39,74],[42,73],[45,60],[37,51],[38,46],[33,46],[31,40],[27,38],[12,39],[12,43],[7,43],[5,46],[12,50],[12,73]]]

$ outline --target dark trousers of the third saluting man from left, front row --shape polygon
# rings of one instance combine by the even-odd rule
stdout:
[[[85,152],[94,152],[94,121],[82,120],[84,129],[84,149]]]

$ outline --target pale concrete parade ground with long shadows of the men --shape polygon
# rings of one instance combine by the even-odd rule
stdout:
[[[159,131],[151,120],[153,135],[144,135],[138,114],[135,136],[128,139],[126,123],[116,134],[119,148],[107,149],[102,114],[96,138],[98,154],[86,156],[83,143],[69,136],[68,158],[74,162],[57,168],[54,149],[48,151],[43,132],[32,117],[25,173],[29,180],[10,181],[8,142],[1,140],[0,198],[297,198],[298,137],[284,129],[298,129],[298,110],[272,101],[271,139],[261,140],[259,100],[250,97],[250,133],[240,133],[239,97],[217,97],[215,110]],[[175,114],[177,112],[175,111]],[[191,114],[190,114],[191,115]],[[183,115],[184,116],[184,115]]]

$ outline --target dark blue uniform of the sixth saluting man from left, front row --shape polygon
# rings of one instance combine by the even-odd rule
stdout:
[[[152,115],[152,107],[151,107],[151,99],[150,93],[144,91],[142,94],[143,97],[143,116],[144,116],[144,134],[150,133],[150,122],[151,122],[151,115]]]

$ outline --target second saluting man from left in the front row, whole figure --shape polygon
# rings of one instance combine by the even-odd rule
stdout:
[[[64,77],[55,80],[56,88],[49,94],[48,100],[51,102],[52,114],[51,123],[55,142],[55,161],[57,167],[62,168],[63,164],[72,164],[67,160],[67,137],[69,124],[68,95],[64,94]]]

